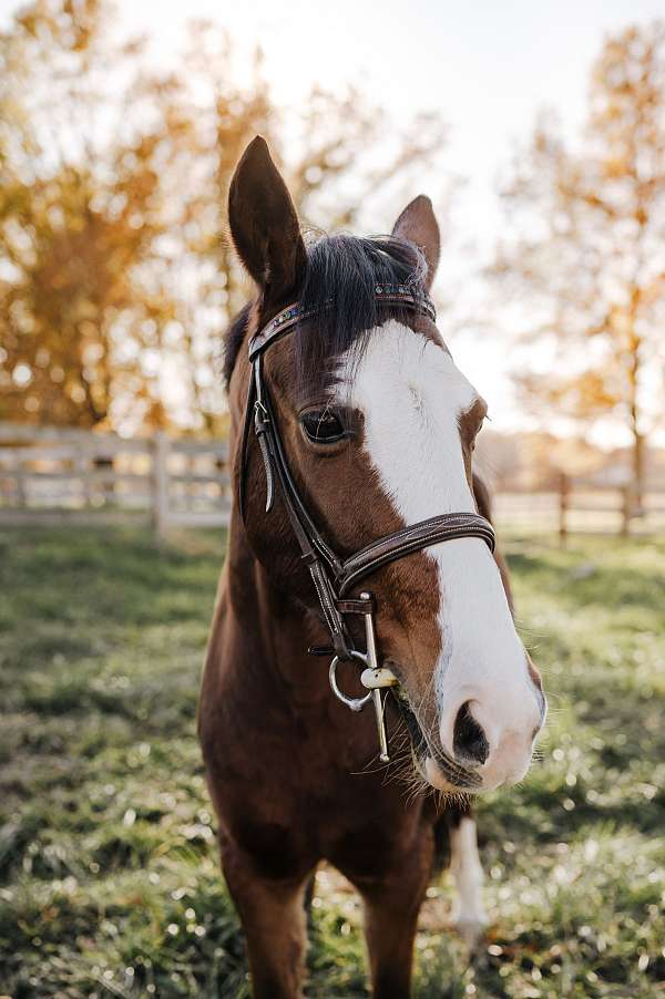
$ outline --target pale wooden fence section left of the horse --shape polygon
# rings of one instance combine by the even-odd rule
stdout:
[[[0,525],[228,523],[225,442],[0,423]]]

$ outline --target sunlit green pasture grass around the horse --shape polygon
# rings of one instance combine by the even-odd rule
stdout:
[[[0,995],[244,997],[194,734],[222,538],[0,533]],[[542,761],[478,810],[492,927],[429,892],[416,995],[665,995],[665,544],[509,545],[550,692]],[[358,902],[317,876],[310,997],[367,996]]]

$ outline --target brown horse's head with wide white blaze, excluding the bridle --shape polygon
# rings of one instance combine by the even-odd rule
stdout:
[[[293,478],[331,548],[348,556],[429,517],[475,512],[472,454],[485,402],[431,319],[376,296],[386,285],[415,296],[429,290],[439,257],[430,202],[412,202],[390,238],[324,237],[306,248],[286,186],[257,138],[236,171],[229,216],[258,287],[236,342],[290,302],[311,310],[266,352],[263,377]],[[239,360],[232,381],[238,412],[248,378]],[[315,620],[316,594],[285,509],[277,504],[265,514],[256,446],[247,450],[245,475],[252,546]],[[468,537],[433,545],[379,568],[367,586],[381,657],[408,699],[421,773],[444,790],[456,785],[456,764],[480,777],[478,790],[519,781],[545,702],[487,544]]]

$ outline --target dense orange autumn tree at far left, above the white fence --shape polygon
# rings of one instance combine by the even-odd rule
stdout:
[[[0,37],[0,416],[164,422],[154,265],[184,128],[168,82],[109,38],[98,0],[37,0]]]

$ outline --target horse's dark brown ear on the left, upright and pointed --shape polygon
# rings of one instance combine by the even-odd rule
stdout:
[[[307,266],[305,244],[294,203],[260,135],[243,153],[231,182],[228,220],[238,256],[264,300],[296,291]]]

